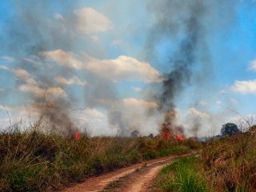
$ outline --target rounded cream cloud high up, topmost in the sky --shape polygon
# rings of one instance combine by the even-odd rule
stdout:
[[[84,34],[106,32],[114,28],[109,18],[91,7],[74,10],[74,15],[78,30]]]

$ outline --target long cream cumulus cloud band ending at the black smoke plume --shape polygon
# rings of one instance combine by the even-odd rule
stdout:
[[[124,55],[115,59],[100,60],[86,53],[78,55],[64,50],[53,50],[40,52],[39,56],[71,69],[88,70],[102,78],[108,78],[113,81],[161,81],[160,73],[149,63]]]

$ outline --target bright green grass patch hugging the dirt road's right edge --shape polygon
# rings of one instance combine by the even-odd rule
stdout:
[[[152,186],[153,191],[205,192],[206,182],[198,174],[197,158],[194,156],[178,158],[177,161],[165,166],[157,181]]]

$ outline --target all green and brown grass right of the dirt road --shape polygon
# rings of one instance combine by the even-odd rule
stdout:
[[[256,126],[208,141],[198,158],[166,166],[154,191],[256,191]],[[190,190],[188,190],[190,189]]]

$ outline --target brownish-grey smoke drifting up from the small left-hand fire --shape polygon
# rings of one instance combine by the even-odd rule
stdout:
[[[46,130],[68,135],[75,130],[70,118],[74,98],[54,78],[71,77],[73,71],[43,62],[37,54],[57,47],[72,49],[72,38],[68,37],[69,34],[60,32],[58,23],[54,22],[53,15],[49,13],[55,6],[62,11],[70,10],[74,2],[26,0],[12,2],[12,5],[14,15],[6,21],[0,41],[3,51],[15,58],[14,71],[19,70],[25,74],[16,79],[16,89],[26,92],[26,96],[30,97],[30,107],[43,116],[39,118],[48,125]]]

